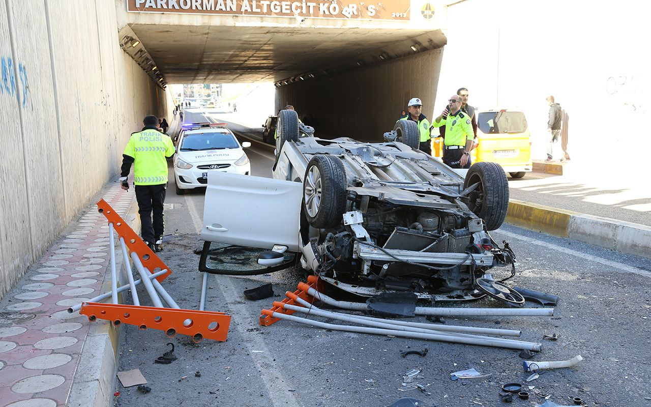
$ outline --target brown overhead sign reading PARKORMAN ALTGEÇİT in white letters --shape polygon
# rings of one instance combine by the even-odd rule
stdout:
[[[129,12],[409,20],[411,0],[127,0]]]

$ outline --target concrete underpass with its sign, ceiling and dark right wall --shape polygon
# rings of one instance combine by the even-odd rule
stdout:
[[[432,110],[447,41],[445,5],[388,3],[130,0],[120,37],[161,83],[273,82],[275,112],[252,115],[291,104],[319,137],[380,141],[409,98]]]

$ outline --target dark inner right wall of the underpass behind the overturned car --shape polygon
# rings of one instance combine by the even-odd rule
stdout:
[[[277,89],[276,113],[294,105],[301,120],[314,117],[317,137],[383,141],[383,133],[393,129],[409,98],[421,98],[425,111],[432,109],[442,55],[442,49],[435,49],[291,83]]]

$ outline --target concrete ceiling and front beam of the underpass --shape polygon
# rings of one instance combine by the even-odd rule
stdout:
[[[322,3],[338,4],[339,10],[354,4],[359,14],[376,3],[385,7],[385,12],[376,11],[375,19],[368,15],[314,18],[309,9],[305,15],[288,18],[280,16],[282,13],[224,15],[215,14],[219,10],[191,8],[210,8],[211,4],[214,8],[217,1],[128,0],[129,10],[140,11],[124,10],[120,38],[139,40],[166,83],[277,82],[301,75],[322,76],[441,48],[446,42],[441,24],[447,11],[445,3],[388,0],[383,5],[368,0],[310,0],[317,10]],[[248,3],[229,1],[236,12],[242,12]],[[250,1],[255,10],[255,1]],[[179,3],[190,8],[165,8]],[[271,2],[258,1],[258,9],[260,3]],[[298,2],[274,3],[291,6]],[[398,17],[391,20],[392,16]]]

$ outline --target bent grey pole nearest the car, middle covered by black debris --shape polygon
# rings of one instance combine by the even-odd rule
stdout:
[[[343,309],[353,309],[356,311],[367,311],[365,303],[337,301],[334,298],[318,292],[305,283],[299,283],[298,288],[307,292],[312,297],[328,305]],[[551,308],[434,308],[434,307],[416,307],[416,315],[432,316],[552,316],[554,310]]]

